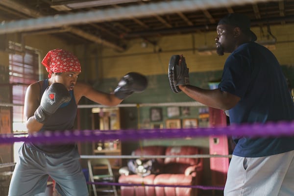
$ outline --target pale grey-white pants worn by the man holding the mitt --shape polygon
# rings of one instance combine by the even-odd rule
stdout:
[[[294,150],[265,157],[233,155],[224,196],[294,196]]]

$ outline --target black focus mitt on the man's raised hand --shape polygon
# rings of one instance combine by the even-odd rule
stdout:
[[[179,64],[179,60],[181,62]],[[182,55],[172,55],[169,63],[169,82],[172,92],[179,93],[182,90],[179,85],[189,85],[189,69]]]

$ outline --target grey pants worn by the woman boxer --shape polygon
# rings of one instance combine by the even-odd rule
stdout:
[[[34,196],[44,193],[50,176],[62,196],[88,196],[85,176],[76,148],[59,154],[46,154],[25,143],[19,149],[8,196]]]

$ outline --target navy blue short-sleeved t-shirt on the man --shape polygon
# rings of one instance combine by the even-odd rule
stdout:
[[[254,42],[239,46],[227,58],[221,91],[241,100],[229,110],[230,123],[294,120],[294,103],[286,79],[272,52]],[[279,130],[277,130],[279,131]],[[262,157],[294,150],[294,137],[233,137],[234,155]]]

